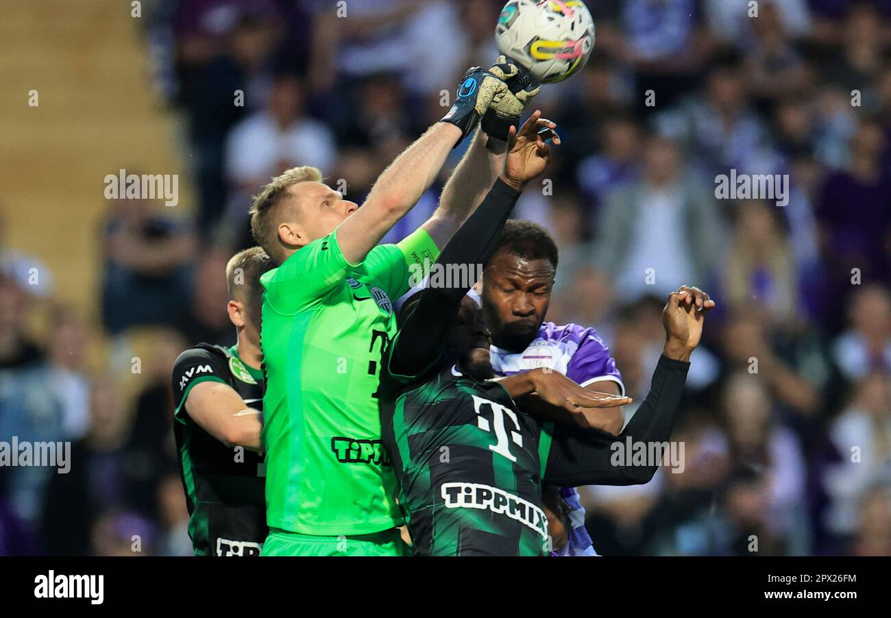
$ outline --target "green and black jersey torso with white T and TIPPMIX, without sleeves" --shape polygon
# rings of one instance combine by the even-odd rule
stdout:
[[[453,367],[405,389],[381,375],[382,436],[415,552],[544,555],[541,462],[550,434],[497,382]]]

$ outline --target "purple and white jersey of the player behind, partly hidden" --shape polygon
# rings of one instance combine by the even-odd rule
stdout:
[[[567,378],[581,386],[609,380],[616,382],[620,394],[625,394],[622,374],[618,372],[616,361],[609,355],[609,347],[592,328],[578,324],[557,326],[546,321],[538,329],[538,337],[523,352],[513,353],[492,346],[489,350],[492,368],[500,376],[547,367],[560,371]],[[584,528],[584,507],[578,501],[578,492],[573,487],[560,489],[560,495],[567,500],[572,530],[569,539],[560,552],[552,556],[597,556],[593,542]]]

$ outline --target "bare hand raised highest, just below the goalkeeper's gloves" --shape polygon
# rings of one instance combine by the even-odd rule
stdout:
[[[542,118],[541,110],[535,110],[519,132],[511,126],[507,160],[501,175],[504,183],[522,191],[526,183],[544,172],[551,158],[551,143],[560,144],[560,135],[554,131],[556,128],[555,123]]]

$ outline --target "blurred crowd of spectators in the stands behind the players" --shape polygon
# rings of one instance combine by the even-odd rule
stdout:
[[[0,469],[0,554],[191,553],[169,371],[233,343],[224,269],[254,244],[250,196],[312,165],[361,203],[495,60],[503,2],[143,4],[196,202],[109,204],[95,320],[0,244],[0,439],[72,443],[68,475]],[[548,319],[598,329],[641,402],[666,295],[718,301],[675,428],[683,472],[584,488],[595,548],[891,555],[891,1],[588,4],[593,56],[535,99],[563,143],[517,211],[558,240]],[[386,240],[429,216],[461,154]],[[788,175],[788,203],[716,199],[731,170]]]

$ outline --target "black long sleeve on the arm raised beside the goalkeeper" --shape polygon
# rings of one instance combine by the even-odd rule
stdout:
[[[483,264],[495,252],[498,237],[517,203],[519,191],[501,179],[495,181],[486,198],[455,232],[437,259],[437,264]],[[389,354],[389,370],[395,376],[421,375],[446,351],[449,331],[467,287],[423,289],[421,300],[408,307]]]

